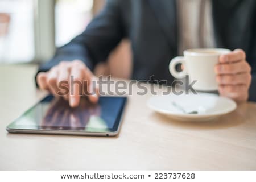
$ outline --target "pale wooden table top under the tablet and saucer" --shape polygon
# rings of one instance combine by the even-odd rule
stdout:
[[[129,96],[118,137],[9,134],[5,127],[44,96],[36,65],[0,66],[0,169],[256,169],[256,104],[210,122],[172,121]],[[133,89],[137,89],[135,86]]]

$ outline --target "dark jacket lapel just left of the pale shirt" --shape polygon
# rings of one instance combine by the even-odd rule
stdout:
[[[148,0],[171,51],[177,53],[177,14],[175,0]]]

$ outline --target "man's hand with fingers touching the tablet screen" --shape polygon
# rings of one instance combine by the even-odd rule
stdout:
[[[73,76],[73,84],[71,84],[71,76]],[[78,106],[81,95],[85,93],[89,93],[90,101],[98,101],[98,87],[95,84],[96,88],[93,88],[92,80],[96,80],[96,77],[80,60],[61,61],[60,64],[52,67],[48,72],[40,72],[36,77],[40,89],[48,90],[54,96],[64,97],[65,100],[69,101],[71,107]],[[77,82],[81,84],[77,84]],[[63,93],[60,85],[65,85],[68,93],[60,94]]]

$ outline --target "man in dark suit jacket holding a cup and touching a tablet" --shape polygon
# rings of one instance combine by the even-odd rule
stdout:
[[[60,47],[53,59],[39,68],[36,79],[41,89],[53,94],[59,91],[60,81],[68,81],[71,75],[74,80],[90,82],[94,66],[106,60],[123,38],[129,38],[132,78],[137,80],[154,75],[156,80],[173,81],[169,61],[184,49],[234,50],[220,56],[214,68],[218,92],[237,102],[256,101],[255,22],[254,0],[110,0],[81,35]],[[92,84],[86,89],[92,90]],[[64,98],[77,106],[79,88]],[[98,96],[89,99],[97,102]]]

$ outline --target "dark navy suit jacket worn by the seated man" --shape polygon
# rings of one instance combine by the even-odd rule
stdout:
[[[241,48],[253,70],[250,100],[256,101],[256,1],[213,0],[214,38],[219,48]],[[109,0],[81,35],[56,51],[39,68],[48,71],[61,60],[80,59],[90,69],[105,61],[123,38],[131,40],[133,75],[138,80],[173,77],[170,60],[177,56],[179,30],[175,0]]]

